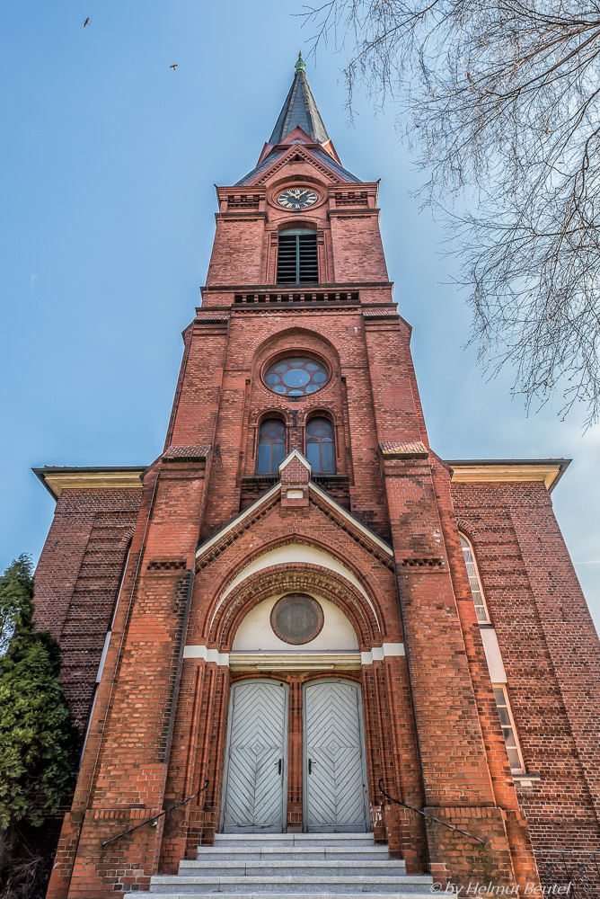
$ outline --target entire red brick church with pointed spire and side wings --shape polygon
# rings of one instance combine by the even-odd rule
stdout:
[[[600,849],[600,652],[550,497],[568,463],[429,448],[377,182],[342,165],[301,59],[217,196],[162,455],[36,469],[39,626],[86,730],[48,895],[282,895],[301,844],[350,875],[372,845],[405,878],[369,862],[304,893],[536,884]],[[226,871],[252,847],[274,876],[244,889]]]

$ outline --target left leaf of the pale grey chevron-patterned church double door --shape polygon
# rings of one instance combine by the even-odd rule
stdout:
[[[232,690],[224,832],[282,832],[287,686],[245,681]]]

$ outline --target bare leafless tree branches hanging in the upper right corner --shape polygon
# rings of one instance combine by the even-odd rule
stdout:
[[[482,364],[526,405],[600,416],[600,4],[593,0],[330,0],[305,13],[347,46],[357,85],[399,103],[448,212]],[[472,213],[453,201],[469,194]]]

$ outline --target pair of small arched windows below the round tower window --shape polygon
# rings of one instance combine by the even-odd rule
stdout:
[[[306,458],[315,474],[335,474],[333,424],[328,418],[311,418],[306,424]],[[286,458],[286,425],[279,418],[267,418],[260,424],[256,466],[260,474],[277,474]]]

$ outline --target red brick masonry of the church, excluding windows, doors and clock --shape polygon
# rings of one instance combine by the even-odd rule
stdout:
[[[407,870],[524,885],[537,882],[534,854],[545,864],[554,850],[600,849],[600,654],[548,490],[517,475],[452,480],[428,447],[377,185],[349,184],[299,129],[278,150],[243,188],[217,189],[207,285],[183,334],[163,456],[143,487],[74,481],[58,498],[36,575],[38,619],[61,641],[83,728],[110,627],[111,636],[50,899],[145,887],[213,840],[229,690],[256,676],[216,654],[229,652],[257,602],[287,590],[335,603],[366,654],[403,645],[405,654],[381,651],[344,676],[362,686],[375,839]],[[319,202],[282,209],[274,198],[290,183],[311,186]],[[290,225],[316,232],[318,285],[274,283],[278,231]],[[296,400],[270,391],[262,372],[290,353],[321,360],[325,387]],[[304,453],[313,415],[333,424],[335,475],[309,484],[296,457],[281,481],[257,475],[261,421],[278,417],[287,452]],[[539,777],[531,787],[515,784],[508,766],[459,527],[480,565],[526,770]],[[255,570],[222,601],[246,565],[292,541],[338,560],[354,581],[335,566],[290,561]],[[213,655],[184,660],[185,645]],[[303,825],[302,685],[327,675],[262,673],[289,684],[291,829]],[[168,823],[101,847],[205,778],[207,792]],[[382,805],[380,778],[485,846]]]

